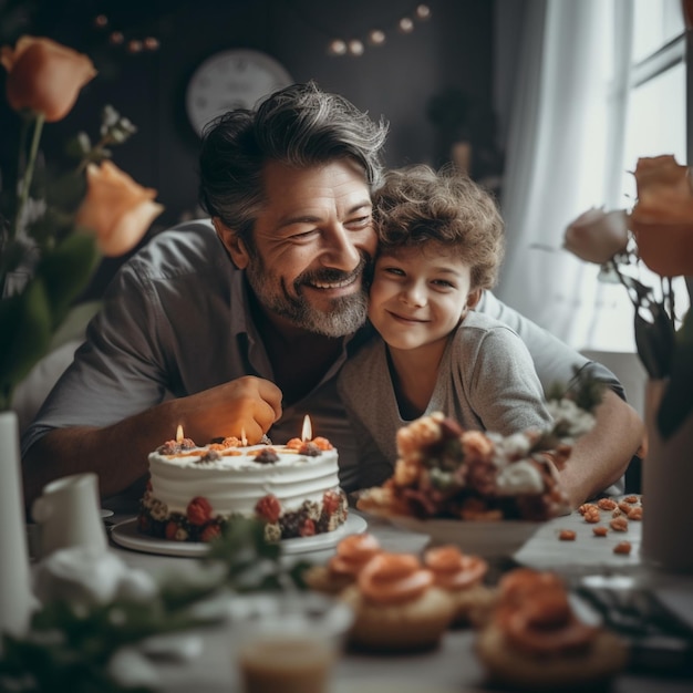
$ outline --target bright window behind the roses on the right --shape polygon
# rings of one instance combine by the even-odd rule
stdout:
[[[673,154],[687,162],[685,27],[681,0],[614,0],[614,49],[608,112],[611,134],[604,199],[609,208],[632,207],[638,158]],[[690,162],[689,162],[690,163]],[[642,269],[643,283],[660,278]],[[673,281],[679,314],[690,304],[685,281]],[[632,308],[621,286],[601,286],[590,346],[635,351]]]

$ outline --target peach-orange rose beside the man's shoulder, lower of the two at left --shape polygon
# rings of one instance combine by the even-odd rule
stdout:
[[[95,231],[100,250],[116,257],[132,250],[164,207],[156,190],[135,183],[110,161],[86,167],[86,197],[75,221]]]

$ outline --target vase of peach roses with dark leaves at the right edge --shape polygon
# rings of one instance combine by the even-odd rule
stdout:
[[[669,155],[639,159],[634,175],[632,210],[589,210],[568,227],[566,247],[601,263],[601,276],[622,283],[633,303],[635,345],[650,376],[641,554],[658,570],[693,573],[693,554],[682,549],[693,524],[693,311],[680,314],[673,283],[686,277],[691,294],[693,188],[690,169]],[[654,272],[652,286],[640,280],[642,265]]]

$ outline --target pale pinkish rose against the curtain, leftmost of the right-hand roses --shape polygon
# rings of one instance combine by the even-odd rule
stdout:
[[[586,262],[603,265],[628,246],[625,211],[588,209],[566,229],[563,248]]]

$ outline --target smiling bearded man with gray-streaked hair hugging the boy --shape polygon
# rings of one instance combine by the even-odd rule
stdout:
[[[84,470],[111,496],[142,479],[147,453],[178,425],[204,444],[313,433],[359,488],[355,442],[335,392],[349,353],[369,339],[364,271],[375,252],[371,192],[386,125],[313,83],[208,127],[200,200],[211,217],[154,238],[117,273],[75,355],[22,439],[28,503],[50,479]],[[216,234],[215,234],[216,230]],[[606,369],[499,303],[478,310],[526,341],[545,387],[573,369]],[[613,434],[614,431],[619,435]],[[642,433],[609,391],[594,430],[561,470],[575,504],[614,483]]]

